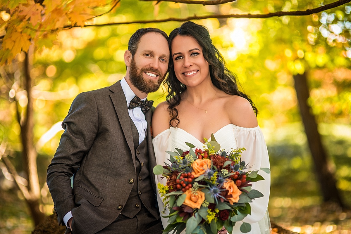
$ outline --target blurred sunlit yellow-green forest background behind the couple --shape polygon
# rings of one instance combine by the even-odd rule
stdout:
[[[6,2],[6,1],[1,1]],[[20,1],[17,1],[20,2]],[[22,1],[26,2],[26,1]],[[44,1],[45,2],[45,1]],[[55,1],[57,2],[57,1]],[[64,1],[62,1],[64,2]],[[69,2],[69,1],[68,1]],[[78,1],[77,1],[78,2]],[[333,1],[325,1],[324,4]],[[91,24],[185,18],[189,15],[270,13],[321,6],[322,1],[233,1],[222,5],[122,0]],[[88,7],[88,6],[86,6]],[[108,7],[95,9],[96,14]],[[351,4],[306,16],[266,19],[193,20],[208,28],[213,43],[256,104],[271,163],[271,220],[298,233],[351,233],[351,213],[324,202],[299,109],[294,77],[305,76],[310,114],[316,120],[328,168],[345,207],[351,206]],[[1,8],[2,22],[9,12]],[[53,202],[46,169],[59,144],[61,122],[80,93],[114,84],[125,75],[124,51],[141,27],[167,34],[181,22],[130,23],[58,30],[36,38],[28,53],[0,67],[0,233],[31,233],[34,222],[16,186],[27,185],[21,117],[27,112],[24,77],[32,82],[33,149],[37,152],[40,212],[51,215]],[[4,30],[4,28],[1,28]],[[3,34],[4,35],[4,34]],[[25,74],[26,61],[29,62]],[[165,100],[166,87],[148,95],[154,106]],[[1,158],[0,156],[0,158]]]

